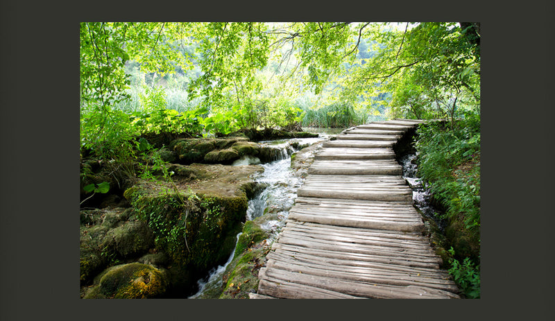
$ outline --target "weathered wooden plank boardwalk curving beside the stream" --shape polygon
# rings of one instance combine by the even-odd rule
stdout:
[[[251,298],[459,298],[395,162],[393,144],[419,122],[359,125],[324,143]]]

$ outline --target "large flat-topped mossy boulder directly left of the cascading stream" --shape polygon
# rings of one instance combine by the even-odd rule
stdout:
[[[174,288],[191,288],[196,280],[232,252],[246,220],[250,175],[258,166],[193,164],[203,180],[143,181],[124,196],[153,230],[157,250],[168,254]],[[252,192],[251,192],[252,193]]]

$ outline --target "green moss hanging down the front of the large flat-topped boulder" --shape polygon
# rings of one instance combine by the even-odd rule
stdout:
[[[206,270],[229,257],[245,220],[246,196],[164,192],[133,200],[155,245],[181,268]]]

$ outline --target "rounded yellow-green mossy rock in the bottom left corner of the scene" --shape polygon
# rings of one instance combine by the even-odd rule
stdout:
[[[99,284],[85,299],[146,299],[161,297],[169,285],[167,271],[142,263],[113,266],[103,272]]]

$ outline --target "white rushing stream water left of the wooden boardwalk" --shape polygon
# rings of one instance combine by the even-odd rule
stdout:
[[[257,174],[253,180],[261,186],[265,186],[262,191],[248,201],[247,220],[254,220],[259,216],[269,214],[268,219],[261,226],[262,229],[270,232],[268,243],[271,243],[278,236],[285,220],[289,216],[289,209],[293,206],[297,197],[297,190],[302,186],[302,179],[294,175],[291,170],[291,154],[305,146],[316,144],[319,141],[328,139],[329,135],[321,134],[316,138],[287,139],[276,141],[260,141],[262,146],[277,148],[277,159],[273,162],[260,164],[264,167],[264,172]],[[257,157],[244,157],[234,163],[234,166],[259,164]],[[239,239],[237,235],[237,239]],[[189,299],[213,298],[219,294],[223,285],[222,277],[225,268],[231,263],[234,252],[231,253],[228,261],[223,266],[213,268],[209,275],[204,279],[198,280],[198,292],[191,295]]]

